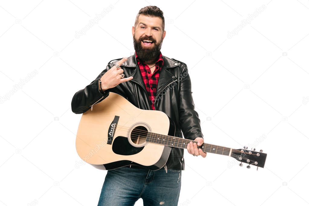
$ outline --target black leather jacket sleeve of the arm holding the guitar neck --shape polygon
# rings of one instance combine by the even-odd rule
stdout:
[[[187,65],[185,65],[179,80],[179,119],[184,138],[190,140],[194,140],[197,137],[203,138],[200,125],[201,121],[198,118],[198,113],[194,110],[195,105]]]

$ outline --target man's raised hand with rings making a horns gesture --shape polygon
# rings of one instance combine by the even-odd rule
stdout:
[[[122,63],[124,63],[128,58],[123,58],[120,61],[118,61],[116,64],[118,64],[119,68],[116,68],[116,65],[110,68],[102,77],[101,77],[101,88],[104,92],[107,89],[116,87],[118,84],[122,82],[126,82],[133,79],[133,76],[129,76],[127,78],[121,79],[121,74],[123,73],[123,69],[120,67]]]

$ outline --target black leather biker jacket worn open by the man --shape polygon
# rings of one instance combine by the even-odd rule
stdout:
[[[86,112],[91,108],[91,105],[108,98],[109,92],[120,94],[140,109],[151,109],[135,55],[128,57],[128,60],[121,65],[125,77],[133,76],[133,80],[118,84],[105,92],[99,90],[99,79],[118,60],[121,60],[121,58],[110,61],[106,69],[94,81],[74,94],[71,103],[74,113]],[[203,138],[200,119],[194,110],[187,65],[166,56],[163,56],[163,60],[164,65],[160,71],[157,85],[155,109],[166,113],[175,122],[176,137],[182,138],[183,133],[186,139]],[[103,98],[101,99],[101,97]],[[184,149],[172,147],[166,166],[167,169],[184,170]]]

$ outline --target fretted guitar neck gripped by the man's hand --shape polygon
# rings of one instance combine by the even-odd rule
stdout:
[[[197,141],[194,141],[194,140],[173,137],[173,136],[163,135],[163,134],[157,134],[153,132],[148,132],[146,142],[151,142],[151,143],[166,145],[166,146],[171,146],[171,147],[178,147],[178,148],[183,148],[183,149],[187,148],[187,145],[189,142],[197,143]],[[197,146],[197,148],[201,148],[203,152],[210,152],[210,153],[226,155],[226,156],[230,156],[231,151],[232,151],[232,149],[229,147],[218,146],[218,145],[213,145],[213,144],[208,144],[208,143],[206,144],[205,142],[201,146]]]

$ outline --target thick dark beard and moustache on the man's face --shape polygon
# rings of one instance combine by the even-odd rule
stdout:
[[[151,47],[143,47],[142,46],[143,40],[150,40],[153,42],[154,45]],[[137,53],[138,58],[142,62],[149,62],[159,58],[162,42],[163,39],[159,43],[156,43],[156,41],[152,37],[146,37],[146,36],[140,37],[138,40],[136,40],[135,35],[133,36],[134,49]]]

